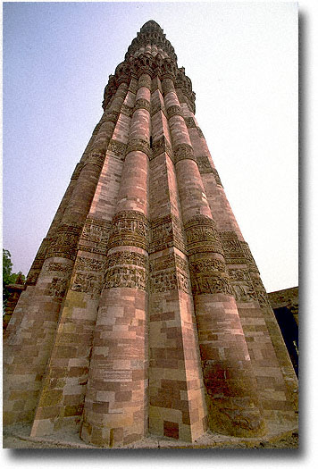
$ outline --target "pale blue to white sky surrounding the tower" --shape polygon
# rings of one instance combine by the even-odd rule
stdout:
[[[197,121],[268,291],[297,285],[297,4],[4,4],[4,247],[29,271],[148,20],[197,94]]]

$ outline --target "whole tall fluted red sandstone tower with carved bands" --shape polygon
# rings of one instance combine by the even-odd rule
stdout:
[[[100,447],[295,427],[296,375],[155,21],[103,109],[7,327],[4,424]]]

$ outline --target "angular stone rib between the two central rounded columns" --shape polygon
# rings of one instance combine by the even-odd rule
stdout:
[[[149,431],[194,441],[207,429],[205,390],[172,143],[157,79],[151,109]]]

